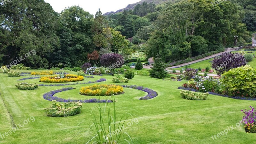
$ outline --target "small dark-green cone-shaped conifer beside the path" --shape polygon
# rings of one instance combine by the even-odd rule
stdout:
[[[154,59],[153,68],[149,71],[149,76],[153,78],[165,78],[167,76],[167,72],[165,71],[165,65],[160,58],[160,55],[157,54]]]

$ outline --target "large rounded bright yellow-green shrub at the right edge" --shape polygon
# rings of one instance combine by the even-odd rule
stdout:
[[[220,82],[222,90],[228,96],[256,96],[256,70],[249,65],[224,72]]]

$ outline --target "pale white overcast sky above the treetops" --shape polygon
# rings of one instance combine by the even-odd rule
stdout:
[[[119,9],[125,8],[128,4],[139,1],[140,0],[45,0],[45,2],[51,4],[56,12],[61,12],[65,8],[73,5],[79,5],[85,11],[93,15],[95,15],[99,8],[103,14],[110,11],[116,12]]]

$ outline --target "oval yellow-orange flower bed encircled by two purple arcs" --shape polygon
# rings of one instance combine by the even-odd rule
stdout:
[[[123,87],[119,85],[93,85],[86,86],[80,89],[80,94],[82,95],[93,95],[93,96],[109,96],[121,94],[123,92]]]

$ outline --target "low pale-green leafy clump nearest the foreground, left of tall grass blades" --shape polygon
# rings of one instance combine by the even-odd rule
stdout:
[[[52,106],[50,108],[45,108],[47,116],[51,117],[64,117],[64,116],[73,116],[79,114],[82,109],[81,102],[69,102],[61,104],[52,100]]]

